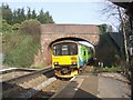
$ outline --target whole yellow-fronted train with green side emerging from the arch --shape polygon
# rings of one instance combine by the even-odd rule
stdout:
[[[72,78],[95,56],[94,46],[88,41],[62,40],[51,47],[52,68],[59,78]]]

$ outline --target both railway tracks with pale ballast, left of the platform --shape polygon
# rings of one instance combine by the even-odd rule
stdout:
[[[2,97],[6,98],[52,98],[61,91],[70,79],[57,79],[51,68],[33,71],[2,81]]]

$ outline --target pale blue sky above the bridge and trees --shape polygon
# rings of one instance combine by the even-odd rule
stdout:
[[[49,11],[55,23],[63,24],[102,24],[113,26],[114,30],[119,21],[103,14],[104,0],[1,0],[11,9],[30,7],[39,12]]]

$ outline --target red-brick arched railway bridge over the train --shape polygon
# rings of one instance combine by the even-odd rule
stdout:
[[[52,42],[63,39],[86,40],[96,46],[100,39],[100,30],[94,24],[42,24],[41,26],[41,49],[34,58],[34,64],[51,64]]]

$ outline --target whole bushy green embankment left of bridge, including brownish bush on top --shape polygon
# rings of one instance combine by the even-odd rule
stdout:
[[[30,68],[40,48],[40,22],[25,20],[21,24],[12,26],[12,30],[14,31],[8,31],[3,36],[3,63],[9,67]]]

